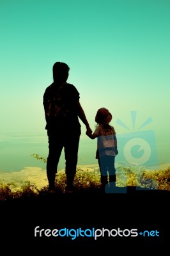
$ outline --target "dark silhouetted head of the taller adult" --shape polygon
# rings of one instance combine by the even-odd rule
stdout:
[[[52,67],[54,83],[65,83],[68,79],[68,72],[70,68],[64,62],[56,62]]]

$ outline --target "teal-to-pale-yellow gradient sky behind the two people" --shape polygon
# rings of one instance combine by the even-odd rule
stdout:
[[[137,111],[135,127],[151,117],[143,129],[170,145],[170,1],[0,0],[0,24],[1,132],[46,134],[43,93],[63,61],[92,130],[98,108],[117,133]]]

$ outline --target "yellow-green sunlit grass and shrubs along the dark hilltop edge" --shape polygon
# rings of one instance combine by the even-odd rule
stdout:
[[[44,159],[42,159],[44,161]],[[84,171],[77,168],[74,185],[81,193],[96,193],[100,191],[100,172],[99,170]],[[63,193],[66,186],[65,172],[59,171],[56,175],[56,188]],[[136,166],[120,166],[116,170],[117,187],[140,187],[144,189],[158,189],[170,191],[170,166],[164,170],[138,169]],[[48,186],[41,189],[36,188],[36,184],[25,182],[20,189],[17,184],[10,182],[4,184],[0,181],[0,201],[12,200],[14,198],[33,198],[47,195]]]

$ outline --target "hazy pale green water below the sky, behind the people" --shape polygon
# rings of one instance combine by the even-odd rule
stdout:
[[[158,152],[158,164],[170,163],[168,152],[168,145],[158,145],[160,152]],[[40,167],[46,169],[46,163],[35,159],[32,154],[39,156],[48,156],[48,141],[46,131],[40,133],[1,133],[0,138],[0,170],[3,172],[19,172],[24,167]],[[91,140],[86,135],[82,135],[79,143],[78,164],[98,164],[95,159],[97,150],[97,140]],[[119,157],[116,157],[117,164],[126,164],[121,161],[121,152]],[[65,155],[61,153],[58,169],[65,168]],[[154,164],[153,164],[154,168]]]

